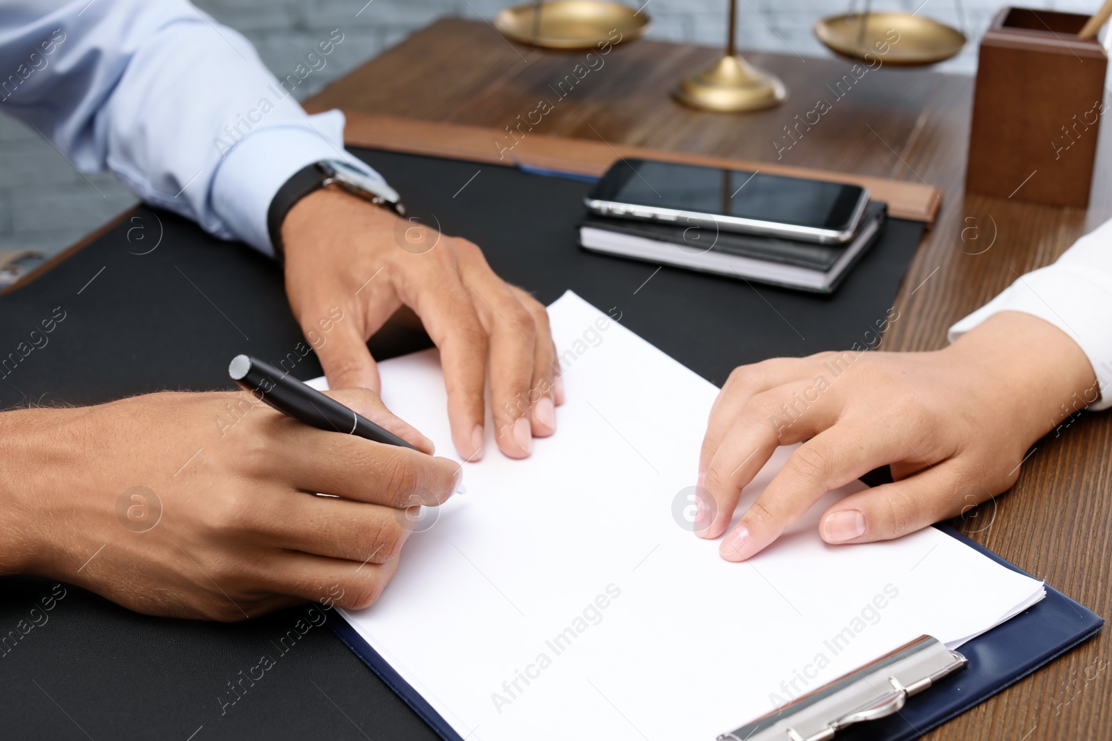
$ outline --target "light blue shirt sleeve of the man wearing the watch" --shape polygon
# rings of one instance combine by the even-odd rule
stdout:
[[[187,0],[0,0],[0,107],[78,169],[109,169],[139,198],[272,254],[267,209],[306,164],[342,159],[344,116],[292,92],[342,33],[280,82],[251,44]]]

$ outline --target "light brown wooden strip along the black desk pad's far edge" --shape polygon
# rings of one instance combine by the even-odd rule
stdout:
[[[410,154],[446,157],[495,164],[525,164],[589,176],[603,174],[619,157],[761,170],[775,174],[863,186],[870,190],[873,198],[887,202],[888,213],[893,217],[925,221],[927,224],[934,221],[942,202],[942,193],[930,186],[870,176],[812,170],[770,162],[748,162],[725,157],[646,149],[627,144],[612,146],[603,141],[547,137],[538,133],[528,133],[510,150],[505,148],[508,142],[507,134],[498,129],[355,111],[345,111],[345,116],[347,116],[347,127],[344,139],[351,147],[386,149]],[[502,142],[500,146],[499,142]]]

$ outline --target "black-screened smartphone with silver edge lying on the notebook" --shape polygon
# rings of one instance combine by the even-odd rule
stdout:
[[[868,190],[759,170],[634,159],[615,162],[584,200],[600,216],[831,244],[853,239]]]

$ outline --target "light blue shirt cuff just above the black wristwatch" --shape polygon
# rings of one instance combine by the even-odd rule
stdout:
[[[320,160],[344,160],[385,182],[363,160],[344,150],[344,113],[307,116],[252,131],[225,153],[212,182],[212,210],[228,231],[274,257],[267,211],[275,194],[301,168]]]

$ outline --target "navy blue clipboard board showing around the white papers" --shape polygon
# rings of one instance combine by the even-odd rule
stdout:
[[[934,525],[996,563],[1027,574],[984,545],[949,524]],[[344,620],[327,623],[345,645],[378,674],[444,741],[463,741],[394,668]],[[1092,638],[1104,624],[1095,612],[1046,587],[1046,598],[1002,625],[974,638],[959,649],[969,665],[936,687],[915,695],[903,710],[881,720],[858,723],[835,737],[836,741],[910,741],[991,698],[1034,670]],[[742,719],[739,719],[742,720]],[[722,729],[727,731],[728,729]],[[711,741],[707,739],[706,741]]]

